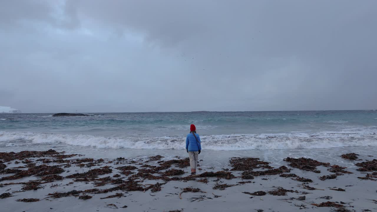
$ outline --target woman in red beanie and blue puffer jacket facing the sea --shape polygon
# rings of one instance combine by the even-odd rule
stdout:
[[[186,137],[186,151],[189,153],[191,174],[196,174],[196,166],[198,165],[198,155],[200,154],[202,147],[200,145],[200,137],[196,134],[196,128],[194,124],[190,125],[190,133]]]

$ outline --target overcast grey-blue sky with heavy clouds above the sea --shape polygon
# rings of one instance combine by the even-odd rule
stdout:
[[[0,0],[0,105],[376,109],[376,8],[375,0]]]

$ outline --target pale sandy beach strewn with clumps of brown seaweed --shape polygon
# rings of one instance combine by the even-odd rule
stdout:
[[[6,212],[377,210],[373,155],[356,160],[334,155],[340,163],[358,165],[344,169],[293,157],[278,167],[252,155],[228,158],[220,168],[207,166],[205,157],[195,176],[189,160],[178,156],[87,158],[49,150],[0,157],[0,203]]]

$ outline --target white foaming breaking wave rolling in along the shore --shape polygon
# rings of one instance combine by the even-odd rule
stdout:
[[[203,149],[313,149],[345,146],[377,146],[374,132],[318,132],[283,134],[202,135]],[[0,143],[60,143],[98,148],[184,149],[185,137],[101,137],[94,135],[0,132]]]

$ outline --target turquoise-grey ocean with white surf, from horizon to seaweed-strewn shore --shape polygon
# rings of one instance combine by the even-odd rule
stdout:
[[[200,157],[259,155],[278,163],[292,154],[376,154],[377,146],[374,110],[89,115],[0,114],[1,152],[55,149],[95,157],[185,156],[190,124],[201,136]],[[216,165],[214,160],[211,164]]]

